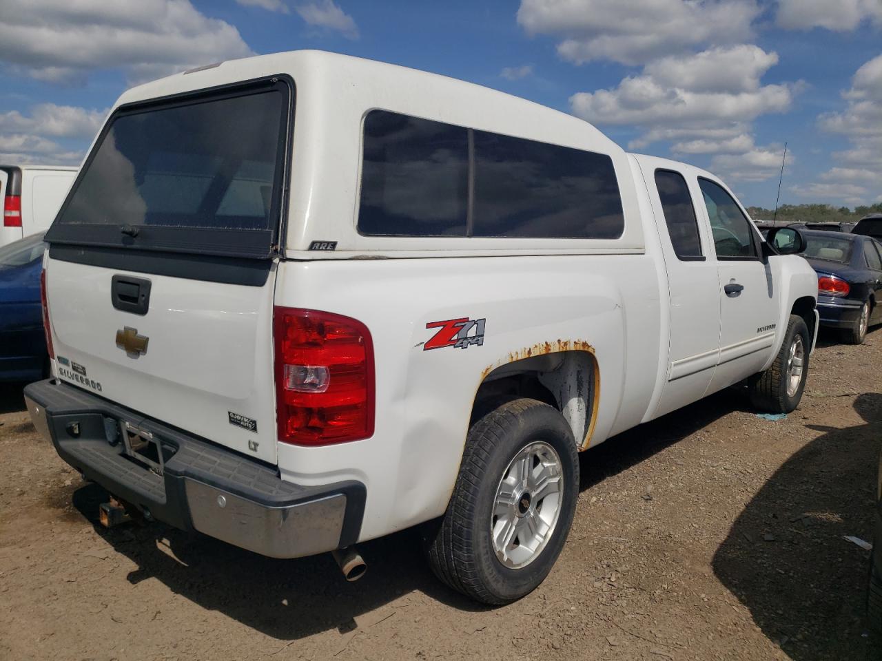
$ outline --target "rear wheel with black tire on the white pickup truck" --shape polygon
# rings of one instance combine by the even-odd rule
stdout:
[[[552,479],[542,498],[533,499],[530,486],[535,476],[542,477],[540,464]],[[557,494],[551,491],[555,475]],[[498,502],[509,489],[510,504]],[[578,497],[579,454],[564,416],[534,399],[499,405],[468,431],[445,515],[423,526],[432,571],[453,590],[483,604],[503,605],[524,597],[557,561]],[[545,535],[538,534],[545,530]],[[508,536],[507,544],[495,543],[505,532],[516,534]],[[523,544],[521,536],[527,536]]]

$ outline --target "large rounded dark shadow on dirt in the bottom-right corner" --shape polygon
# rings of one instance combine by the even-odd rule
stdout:
[[[882,658],[864,635],[882,395],[856,398],[864,424],[823,432],[747,504],[714,555],[714,572],[763,633],[796,661]]]

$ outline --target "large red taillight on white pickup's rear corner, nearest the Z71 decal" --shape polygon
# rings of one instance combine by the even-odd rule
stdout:
[[[280,441],[328,445],[374,433],[367,326],[330,312],[277,307],[273,341]]]

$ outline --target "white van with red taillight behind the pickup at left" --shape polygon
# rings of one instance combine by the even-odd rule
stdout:
[[[67,197],[76,167],[0,165],[0,246],[45,232]]]

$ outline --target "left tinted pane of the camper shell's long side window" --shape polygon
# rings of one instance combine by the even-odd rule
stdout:
[[[364,119],[358,229],[387,236],[465,236],[468,132],[374,110]]]

